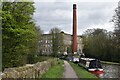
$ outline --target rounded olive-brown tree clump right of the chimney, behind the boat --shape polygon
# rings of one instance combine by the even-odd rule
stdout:
[[[115,36],[104,29],[88,29],[84,33],[84,52],[86,57],[100,60],[119,61],[116,53]]]

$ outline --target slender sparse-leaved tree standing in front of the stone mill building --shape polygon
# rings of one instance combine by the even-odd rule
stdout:
[[[52,28],[50,30],[50,34],[52,35],[52,51],[53,56],[58,56],[58,54],[63,53],[63,35],[61,34],[61,30],[59,28]]]

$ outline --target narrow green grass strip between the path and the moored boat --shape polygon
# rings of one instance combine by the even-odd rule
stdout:
[[[96,78],[97,79],[97,77],[95,75],[89,73],[88,71],[86,71],[82,67],[78,66],[77,64],[74,64],[72,62],[69,62],[69,63],[79,78]]]

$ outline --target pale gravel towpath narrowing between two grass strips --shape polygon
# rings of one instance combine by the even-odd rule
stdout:
[[[64,70],[64,78],[78,78],[75,71],[67,61],[64,61]]]

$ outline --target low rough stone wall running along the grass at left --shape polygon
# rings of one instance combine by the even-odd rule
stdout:
[[[2,73],[2,78],[39,78],[52,65],[57,64],[57,59],[48,59],[47,61],[36,64],[27,64],[26,66],[7,68]]]

